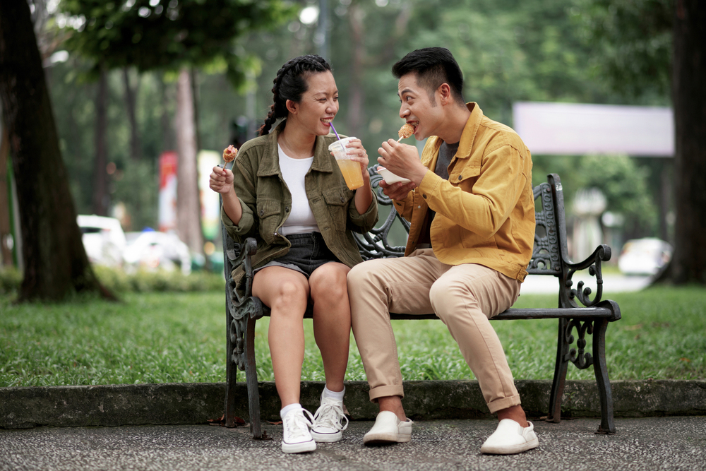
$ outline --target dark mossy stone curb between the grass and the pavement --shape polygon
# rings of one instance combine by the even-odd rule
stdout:
[[[405,381],[405,410],[414,420],[487,419],[492,416],[478,381]],[[515,381],[530,417],[549,411],[551,381]],[[301,405],[314,411],[324,383],[303,381]],[[615,417],[706,415],[706,381],[611,381]],[[260,383],[263,420],[277,420],[275,384]],[[0,388],[0,429],[207,424],[223,414],[225,383]],[[354,420],[373,420],[368,383],[346,382],[346,407]],[[595,381],[566,381],[562,417],[600,417]],[[249,420],[244,383],[236,388],[235,415]]]

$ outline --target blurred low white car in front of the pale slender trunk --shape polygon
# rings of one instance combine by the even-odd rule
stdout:
[[[177,234],[157,231],[128,232],[123,251],[126,270],[181,270],[191,273],[191,253]]]

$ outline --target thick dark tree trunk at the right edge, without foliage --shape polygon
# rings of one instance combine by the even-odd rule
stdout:
[[[674,17],[674,187],[671,280],[706,284],[706,3],[677,0]]]

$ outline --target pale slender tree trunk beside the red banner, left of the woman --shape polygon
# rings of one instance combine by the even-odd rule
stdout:
[[[203,254],[194,119],[191,74],[182,68],[177,82],[177,232],[191,251]]]

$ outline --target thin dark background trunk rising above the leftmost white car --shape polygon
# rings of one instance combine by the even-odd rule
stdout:
[[[101,66],[98,79],[98,92],[95,98],[95,160],[93,161],[93,213],[99,216],[108,214],[108,74]]]

